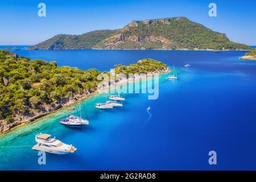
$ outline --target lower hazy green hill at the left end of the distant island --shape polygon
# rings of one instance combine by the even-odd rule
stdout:
[[[82,35],[60,34],[28,49],[90,49],[115,30],[97,30]]]

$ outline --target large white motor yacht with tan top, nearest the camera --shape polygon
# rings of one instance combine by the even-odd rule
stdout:
[[[49,152],[52,154],[70,154],[76,151],[72,144],[65,144],[48,134],[38,134],[35,140],[38,144],[32,147],[33,150]]]

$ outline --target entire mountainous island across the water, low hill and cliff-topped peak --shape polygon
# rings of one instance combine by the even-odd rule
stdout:
[[[118,30],[56,35],[29,49],[250,49],[184,17],[133,20]]]

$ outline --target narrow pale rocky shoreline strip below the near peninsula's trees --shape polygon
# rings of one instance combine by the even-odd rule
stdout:
[[[164,71],[163,70],[161,70],[161,71],[156,71],[156,72],[154,72],[154,73],[147,73],[146,74],[146,77],[148,77],[148,76],[152,76],[152,75],[156,75],[156,74],[158,74],[158,75],[163,75],[163,74],[166,74],[166,73],[169,73],[171,71],[171,69],[170,68],[168,68],[168,67],[166,67],[166,69],[164,69]],[[150,75],[149,75],[150,74]],[[135,80],[137,80],[137,79],[139,79],[139,80],[141,80],[141,78],[144,78],[144,76],[142,77],[141,75],[139,75],[139,76],[137,76],[137,77],[134,77],[133,78],[133,82],[135,81]],[[55,110],[52,110],[51,112],[49,112],[49,113],[42,113],[42,114],[39,114],[39,115],[35,115],[34,117],[37,117],[36,119],[33,119],[34,117],[31,117],[31,118],[27,118],[27,121],[20,121],[18,124],[16,124],[16,125],[13,125],[13,126],[10,126],[9,127],[9,129],[8,130],[5,130],[5,131],[1,131],[0,132],[0,135],[5,135],[5,134],[7,134],[7,133],[9,133],[10,131],[14,131],[14,130],[16,130],[16,129],[18,129],[19,127],[22,127],[22,126],[25,126],[25,125],[30,125],[30,124],[32,124],[32,123],[35,123],[35,122],[38,122],[38,121],[40,121],[40,120],[42,120],[42,119],[44,119],[44,118],[46,118],[46,117],[49,117],[49,116],[51,116],[52,114],[55,114],[55,113],[57,113],[57,112],[59,112],[59,111],[61,111],[61,110],[64,110],[64,109],[68,109],[68,107],[71,107],[71,106],[75,106],[77,103],[79,103],[79,102],[83,102],[83,101],[86,101],[86,100],[88,100],[89,98],[92,98],[92,97],[94,97],[94,96],[97,96],[98,94],[102,94],[102,93],[104,93],[104,91],[106,90],[106,89],[112,89],[112,87],[113,86],[115,86],[115,85],[122,85],[122,84],[125,84],[125,83],[129,83],[131,80],[128,78],[128,79],[123,79],[123,80],[120,80],[120,81],[118,81],[118,82],[115,82],[115,84],[110,84],[109,86],[106,86],[105,88],[101,88],[100,89],[100,92],[98,92],[98,90],[96,89],[96,91],[94,91],[94,92],[92,92],[92,93],[84,93],[84,94],[81,94],[81,99],[80,100],[76,100],[75,102],[67,102],[67,103],[65,103],[65,104],[63,104],[62,105],[62,107],[60,107],[60,108],[57,108],[57,109],[55,109]],[[30,121],[30,119],[31,119],[31,121]],[[15,124],[15,123],[14,123]],[[3,128],[4,128],[4,126],[5,125],[3,125]]]

